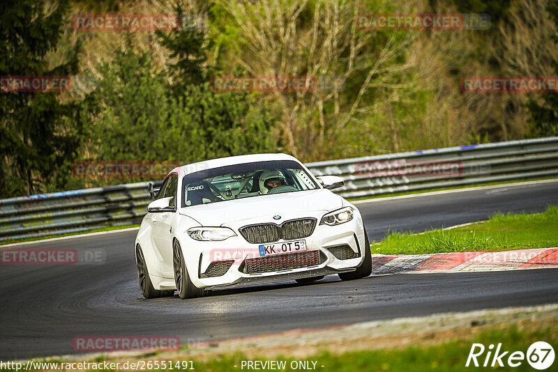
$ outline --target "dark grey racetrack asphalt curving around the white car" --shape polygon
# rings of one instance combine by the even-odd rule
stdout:
[[[540,212],[558,204],[558,182],[504,185],[359,202],[368,234],[424,231],[488,219],[493,212]],[[319,328],[448,311],[558,302],[558,269],[394,274],[315,284],[294,281],[207,297],[144,300],[137,286],[135,231],[35,242],[24,248],[103,249],[96,265],[0,265],[0,359],[75,352],[75,336],[165,335],[188,341]]]

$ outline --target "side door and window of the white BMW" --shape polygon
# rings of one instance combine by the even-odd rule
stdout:
[[[176,206],[176,192],[178,190],[178,175],[171,173],[165,180],[165,189],[161,189],[163,194],[158,194],[161,198],[172,197],[169,206]],[[163,277],[174,277],[172,267],[172,222],[176,212],[154,212],[151,217],[151,231],[155,249],[160,256],[159,270]]]

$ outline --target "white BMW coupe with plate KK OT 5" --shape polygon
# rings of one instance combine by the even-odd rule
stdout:
[[[225,157],[172,170],[135,240],[146,298],[328,274],[368,277],[372,258],[359,210],[285,154]]]

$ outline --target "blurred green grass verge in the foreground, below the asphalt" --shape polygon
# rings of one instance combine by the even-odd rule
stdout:
[[[412,336],[412,335],[409,335]],[[247,356],[242,352],[234,353],[211,353],[202,357],[200,355],[187,355],[183,351],[176,352],[174,355],[149,355],[149,360],[165,360],[173,361],[179,364],[186,364],[188,368],[193,367],[197,371],[204,372],[227,372],[227,371],[246,371],[248,369],[246,362],[258,362],[258,370],[261,371],[300,371],[300,370],[317,370],[317,371],[493,371],[502,369],[508,371],[508,357],[512,352],[522,352],[527,354],[529,346],[536,341],[545,341],[550,343],[553,348],[558,347],[558,322],[556,318],[547,320],[520,320],[518,323],[511,325],[499,324],[490,326],[472,326],[464,330],[446,334],[445,332],[433,332],[427,334],[416,335],[419,339],[413,346],[392,346],[389,348],[371,348],[368,350],[335,352],[335,350],[324,351],[318,354],[306,355],[305,357],[294,358],[278,355],[276,357],[258,357],[257,354]],[[379,340],[381,341],[381,340]],[[381,342],[380,342],[381,343]],[[485,352],[477,358],[480,367],[466,367],[467,357],[472,348],[473,343],[482,343],[485,346]],[[490,367],[492,362],[492,352],[488,367],[483,367],[485,357],[487,356],[488,346],[490,344],[497,346],[502,343],[500,352],[508,351],[507,355],[502,358],[504,368]],[[478,351],[478,349],[477,349]],[[97,357],[90,359],[91,361],[101,362],[111,358]],[[121,358],[118,358],[122,360]],[[141,359],[144,359],[143,357]],[[144,359],[144,360],[146,360]],[[43,359],[49,362],[61,362],[56,359]],[[136,359],[137,360],[137,359]],[[284,368],[269,369],[264,368],[266,362],[275,361],[285,363]],[[186,362],[187,361],[187,362]],[[517,361],[516,361],[517,362]],[[534,371],[527,360],[520,361],[518,367],[513,371]],[[557,361],[548,369],[552,369],[558,364]],[[254,364],[252,364],[253,366]],[[275,364],[277,366],[277,364]],[[243,366],[243,368],[242,368]],[[306,366],[306,368],[303,368]],[[149,369],[147,369],[149,371]],[[1,369],[1,371],[7,371]],[[12,370],[13,371],[13,370]],[[163,370],[152,370],[163,371]],[[164,371],[168,371],[164,370]]]

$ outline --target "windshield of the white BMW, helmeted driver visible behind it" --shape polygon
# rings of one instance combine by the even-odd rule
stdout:
[[[292,160],[235,164],[185,176],[182,206],[318,188],[301,164]]]

